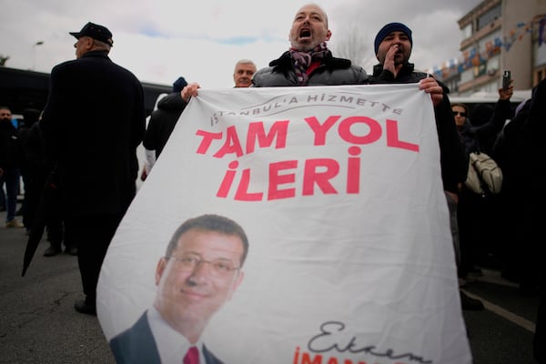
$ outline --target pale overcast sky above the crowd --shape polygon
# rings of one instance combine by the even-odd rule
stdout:
[[[460,58],[457,21],[481,0],[315,1],[329,15],[329,47],[357,29],[360,63],[375,64],[373,39],[389,22],[413,31],[411,61],[422,70]],[[288,50],[288,31],[302,0],[0,0],[0,55],[5,66],[50,72],[74,59],[79,31],[91,21],[113,33],[110,57],[141,81],[172,85],[178,76],[206,88],[233,86],[233,67],[250,58],[258,68]],[[43,45],[35,45],[44,42]],[[336,54],[335,54],[336,55]]]

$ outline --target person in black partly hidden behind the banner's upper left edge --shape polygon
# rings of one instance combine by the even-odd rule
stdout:
[[[152,112],[147,124],[146,133],[142,145],[145,147],[147,162],[140,179],[146,180],[147,175],[157,161],[163,148],[167,144],[168,137],[173,132],[180,115],[187,103],[180,97],[180,91],[187,86],[186,79],[178,77],[173,83],[173,92],[158,97],[157,108]]]

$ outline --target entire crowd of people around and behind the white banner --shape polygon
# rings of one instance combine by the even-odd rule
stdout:
[[[144,180],[199,85],[188,85],[179,77],[173,92],[157,101],[146,126],[142,86],[108,57],[114,45],[110,31],[88,23],[70,35],[76,37],[76,60],[53,68],[45,109],[25,115],[28,130],[15,127],[9,107],[0,106],[0,177],[5,184],[5,206],[0,207],[6,209],[5,227],[31,228],[44,181],[55,171],[61,196],[59,212],[48,221],[51,246],[45,256],[58,254],[65,241],[66,251],[78,257],[85,293],[75,308],[96,314],[96,282],[106,249],[136,195],[136,147],[143,143],[147,149]],[[538,293],[543,272],[537,260],[538,242],[530,232],[537,232],[541,223],[541,198],[531,193],[535,197],[541,193],[537,179],[530,183],[533,159],[523,162],[522,158],[530,152],[539,155],[544,125],[539,123],[540,97],[546,81],[515,112],[512,84],[499,89],[494,107],[470,110],[451,104],[448,87],[410,63],[414,43],[407,25],[389,23],[379,30],[374,40],[379,63],[370,75],[332,54],[327,44],[331,35],[326,13],[318,5],[302,6],[289,31],[288,50],[260,69],[251,60],[238,61],[235,87],[419,83],[434,106],[441,179],[461,285],[494,262],[503,277],[520,283],[522,294]],[[469,155],[476,151],[501,166],[504,182],[497,196],[481,196],[465,187]],[[23,223],[15,218],[20,176],[25,181]],[[479,300],[462,292],[461,307],[483,309]],[[537,349],[536,355],[543,354]]]

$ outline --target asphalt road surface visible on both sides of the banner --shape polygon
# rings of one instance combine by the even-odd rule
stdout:
[[[82,298],[76,257],[45,258],[42,241],[25,277],[25,229],[5,228],[0,213],[0,363],[114,363],[96,317],[73,308]],[[538,298],[522,297],[499,272],[464,289],[484,300],[464,311],[474,364],[534,364],[531,343]],[[259,363],[256,363],[259,364]]]

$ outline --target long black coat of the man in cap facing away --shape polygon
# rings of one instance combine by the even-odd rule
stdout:
[[[106,52],[53,68],[40,127],[58,161],[66,213],[125,213],[136,194],[145,117],[140,82]]]

